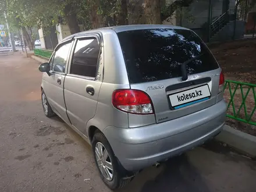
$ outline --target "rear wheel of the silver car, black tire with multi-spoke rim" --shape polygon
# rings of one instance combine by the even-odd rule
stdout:
[[[100,147],[102,147],[101,154],[105,154],[105,152],[108,153],[108,158],[106,158],[106,161],[108,163],[106,163],[106,161],[104,162],[104,155],[101,156],[102,157],[102,160],[101,160],[99,157],[99,155],[101,154],[96,152],[96,150],[98,150]],[[101,132],[97,132],[94,134],[92,148],[93,148],[94,161],[97,166],[99,175],[101,176],[101,179],[106,184],[106,186],[109,187],[109,189],[112,189],[112,190],[120,189],[133,179],[134,176],[127,176],[126,173],[123,171],[122,166],[119,164],[118,159],[113,154],[111,145],[108,143],[108,140],[106,140],[106,137],[104,136],[104,134],[102,134]],[[97,161],[99,161],[99,163]],[[101,166],[102,162],[106,166],[105,165]],[[111,162],[111,164],[109,164],[109,162]],[[112,165],[112,167],[109,165]],[[112,171],[109,168],[112,168]],[[105,171],[105,174],[104,174],[104,171]],[[109,177],[109,175],[106,173],[107,171],[110,174],[112,173],[112,177]],[[108,178],[106,178],[106,176]]]

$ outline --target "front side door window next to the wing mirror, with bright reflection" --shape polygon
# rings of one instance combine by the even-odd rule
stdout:
[[[67,56],[69,54],[71,42],[62,45],[57,51],[55,51],[54,60],[52,62],[52,70],[55,72],[65,73],[65,67],[67,62]]]

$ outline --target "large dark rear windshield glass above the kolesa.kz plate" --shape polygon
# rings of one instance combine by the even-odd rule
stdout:
[[[202,40],[190,30],[146,29],[118,33],[130,83],[143,83],[181,77],[180,65],[187,74],[218,69],[219,65]]]

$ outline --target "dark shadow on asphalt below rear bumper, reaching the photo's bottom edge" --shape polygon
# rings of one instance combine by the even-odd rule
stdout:
[[[162,163],[160,168],[143,170],[124,189],[117,191],[207,192],[209,189],[204,178],[189,162],[187,155],[183,154]]]

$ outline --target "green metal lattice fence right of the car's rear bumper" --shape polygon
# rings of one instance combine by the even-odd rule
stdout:
[[[256,84],[226,80],[224,97],[227,102],[227,117],[256,125],[255,87]]]

